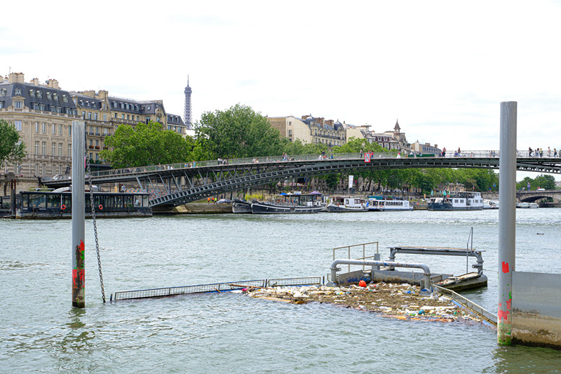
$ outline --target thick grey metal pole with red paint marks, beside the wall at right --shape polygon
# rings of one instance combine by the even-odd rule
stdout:
[[[501,143],[499,156],[499,300],[496,338],[511,345],[511,307],[515,268],[516,229],[516,117],[515,101],[501,102]]]

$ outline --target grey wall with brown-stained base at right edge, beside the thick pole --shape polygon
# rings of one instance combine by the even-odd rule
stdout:
[[[561,349],[561,274],[513,272],[512,342]]]

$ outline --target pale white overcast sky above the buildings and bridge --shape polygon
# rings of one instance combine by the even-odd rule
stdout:
[[[561,149],[561,2],[26,1],[6,4],[0,74],[163,100],[193,119],[241,103],[311,114],[449,151]],[[20,16],[13,16],[20,15]],[[536,175],[531,174],[532,178]],[[556,179],[559,179],[556,177]]]

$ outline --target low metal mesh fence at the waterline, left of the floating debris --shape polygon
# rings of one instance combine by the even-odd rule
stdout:
[[[234,281],[222,283],[197,284],[194,286],[149,288],[147,290],[118,291],[111,294],[111,301],[135,300],[147,298],[166,298],[177,295],[193,295],[196,293],[220,293],[231,290],[241,290],[246,287],[269,286],[305,286],[321,284],[320,276],[285,279],[255,279],[252,281]]]

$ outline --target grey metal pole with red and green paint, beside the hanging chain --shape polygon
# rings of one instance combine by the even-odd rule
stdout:
[[[84,147],[86,122],[72,121],[72,306],[86,307]]]

